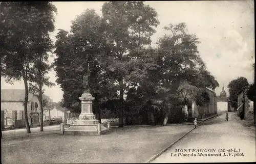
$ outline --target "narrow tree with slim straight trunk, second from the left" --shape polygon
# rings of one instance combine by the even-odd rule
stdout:
[[[38,44],[37,47],[33,50],[37,58],[34,60],[33,73],[31,76],[30,88],[39,93],[39,102],[40,102],[40,131],[44,131],[43,128],[43,97],[44,93],[42,87],[48,86],[52,87],[55,84],[50,82],[50,77],[47,76],[51,69],[51,64],[49,63],[49,53],[52,52],[54,48],[53,41],[50,38],[50,33],[54,31],[54,14],[57,12],[57,9],[51,4],[41,4],[38,11],[42,16],[48,17],[49,24],[41,33],[37,34]],[[40,26],[37,26],[38,30]]]

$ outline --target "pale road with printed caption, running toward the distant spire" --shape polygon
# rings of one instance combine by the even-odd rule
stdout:
[[[225,114],[205,121],[204,126],[199,126],[188,133],[183,139],[152,162],[203,163],[255,161],[255,131],[242,126],[232,115],[236,114],[230,114],[228,122],[225,121]],[[183,150],[192,150],[191,152],[194,152],[193,154],[196,155],[191,155],[191,152],[187,153],[188,151]],[[211,154],[218,155],[212,156]]]

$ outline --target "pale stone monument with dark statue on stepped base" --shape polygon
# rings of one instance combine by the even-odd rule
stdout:
[[[79,97],[81,100],[81,114],[78,120],[74,124],[70,125],[69,128],[63,130],[63,134],[73,134],[73,135],[86,135],[86,134],[103,134],[109,132],[110,130],[103,125],[99,124],[99,120],[95,119],[93,114],[93,100],[94,97],[90,93],[89,87],[89,71],[83,76],[83,88],[84,92]]]

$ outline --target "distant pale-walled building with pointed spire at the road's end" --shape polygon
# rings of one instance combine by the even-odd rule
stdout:
[[[223,86],[220,96],[217,96],[217,113],[225,112],[228,112],[228,98]]]

